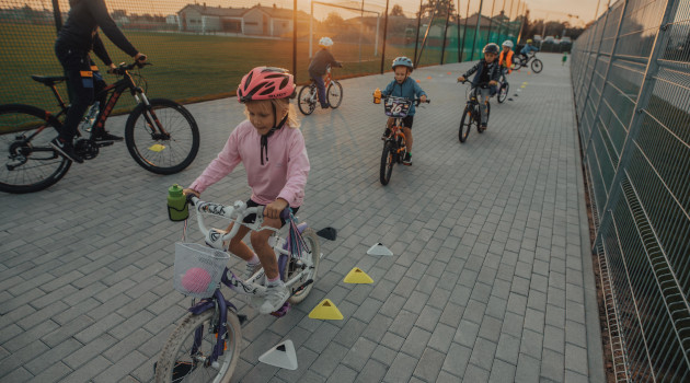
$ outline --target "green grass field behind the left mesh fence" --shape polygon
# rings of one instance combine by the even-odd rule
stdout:
[[[217,35],[192,35],[176,33],[157,33],[125,31],[130,42],[149,56],[152,67],[141,73],[148,80],[150,97],[173,98],[181,102],[194,102],[229,95],[234,92],[241,77],[251,68],[262,65],[292,68],[291,40],[273,40]],[[55,111],[56,103],[44,85],[30,79],[30,74],[62,74],[62,69],[55,58],[55,27],[51,25],[0,24],[0,104],[25,103]],[[102,36],[103,37],[103,36]],[[103,37],[114,62],[129,61],[124,53]],[[299,42],[297,49],[298,82],[308,81],[309,46]],[[372,45],[363,45],[363,61],[359,62],[357,44],[337,44],[333,54],[345,67],[335,69],[336,78],[380,71],[379,56],[373,56]],[[387,46],[386,70],[395,56],[414,54],[414,46]],[[447,62],[457,60],[457,51],[447,51]],[[96,65],[103,63],[92,57]],[[426,48],[422,65],[438,63],[440,49]],[[115,77],[105,74],[107,82]],[[384,84],[381,84],[384,85]],[[65,88],[59,89],[67,97]],[[119,108],[133,105],[128,96],[123,96]]]

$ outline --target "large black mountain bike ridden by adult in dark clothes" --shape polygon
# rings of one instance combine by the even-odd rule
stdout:
[[[148,63],[147,63],[148,65]],[[146,96],[146,79],[130,73],[143,65],[120,63],[115,73],[122,79],[107,85],[110,94],[102,112],[91,106],[77,132],[74,151],[84,160],[94,159],[100,148],[115,141],[99,141],[93,134],[102,129],[115,104],[126,91],[134,96],[137,106],[129,113],[125,125],[125,144],[129,154],[143,169],[157,174],[173,174],[187,167],[199,149],[199,129],[192,114],[171,100]],[[141,88],[134,77],[139,78]],[[32,76],[32,79],[53,91],[60,111],[53,114],[24,104],[0,105],[0,190],[5,193],[32,193],[45,189],[65,176],[72,161],[53,149],[49,141],[62,127],[69,106],[65,104],[56,84],[67,80],[60,76]],[[90,138],[82,137],[91,134]]]

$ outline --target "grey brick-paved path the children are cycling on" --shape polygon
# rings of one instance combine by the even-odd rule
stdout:
[[[321,278],[288,316],[242,306],[233,381],[603,380],[570,72],[541,57],[543,72],[513,74],[514,101],[494,101],[488,130],[464,144],[455,78],[469,63],[415,71],[433,102],[415,116],[414,165],[387,187],[384,115],[370,94],[390,73],[343,81],[341,108],[302,119],[312,170],[300,218],[338,239],[322,242]],[[233,100],[189,109],[202,152],[181,174],[150,174],[119,144],[48,190],[0,195],[2,382],[151,380],[188,303],[172,289],[182,228],[168,221],[166,188],[191,183],[243,119]],[[110,125],[122,131],[124,119]],[[204,197],[248,196],[240,169]],[[366,255],[377,242],[394,256]],[[355,266],[375,283],[344,283]],[[307,316],[324,298],[343,321]],[[299,370],[257,362],[286,338]]]

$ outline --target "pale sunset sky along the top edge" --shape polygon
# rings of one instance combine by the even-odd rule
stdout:
[[[326,3],[346,4],[353,8],[361,5],[361,1],[355,0],[321,0]],[[424,0],[426,1],[426,0]],[[482,14],[491,13],[492,7],[494,8],[494,14],[497,14],[502,9],[506,14],[515,16],[517,13],[518,0],[460,0],[460,14],[463,16],[468,1],[470,4],[470,14],[479,11],[480,2],[482,3]],[[584,25],[595,19],[595,11],[597,4],[599,4],[597,14],[601,14],[606,9],[609,0],[527,0],[527,8],[530,10],[530,19],[547,19],[568,21],[574,25]],[[60,9],[68,10],[68,0],[59,0]],[[111,10],[124,9],[129,13],[152,13],[152,14],[172,14],[183,8],[185,4],[194,3],[195,0],[106,0],[107,7]],[[280,8],[292,8],[292,0],[196,0],[197,3],[206,3],[209,7],[252,7],[257,2],[262,5],[272,7],[274,3]],[[51,0],[0,0],[0,7],[23,7],[30,4],[32,8],[51,8]],[[513,3],[513,10],[510,11],[510,4]],[[419,7],[419,0],[390,0],[390,8],[394,4],[399,4],[403,8],[409,16],[414,16],[414,13]],[[458,7],[458,0],[455,0],[456,8]],[[298,0],[298,8],[306,12],[309,12],[310,0]],[[317,5],[317,12],[319,8],[326,12],[329,8]],[[365,9],[381,12],[386,8],[386,0],[365,0]],[[345,13],[347,13],[345,11]],[[568,13],[577,16],[568,18]]]

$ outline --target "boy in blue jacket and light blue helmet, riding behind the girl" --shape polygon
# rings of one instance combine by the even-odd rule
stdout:
[[[393,60],[392,67],[395,80],[391,81],[381,94],[386,96],[406,97],[410,100],[419,97],[423,103],[426,102],[426,93],[422,90],[422,86],[410,77],[414,69],[412,60],[404,56],[396,57]],[[407,155],[403,159],[403,164],[407,166],[412,165],[412,123],[414,120],[414,113],[415,107],[414,104],[412,104],[407,116],[403,118],[403,135],[405,135],[405,142],[407,143]],[[389,117],[383,138],[388,137],[390,134],[389,129],[393,123],[394,118]]]

